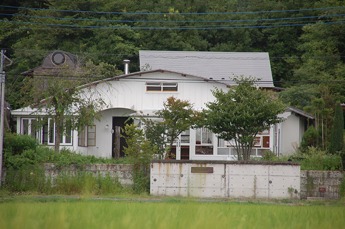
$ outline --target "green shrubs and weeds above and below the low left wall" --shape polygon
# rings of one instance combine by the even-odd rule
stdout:
[[[46,177],[42,163],[54,163],[59,169],[65,165],[80,166],[78,173],[62,169],[56,178]],[[37,145],[29,135],[6,133],[4,138],[3,165],[8,168],[2,189],[8,194],[64,194],[64,195],[114,195],[130,192],[121,187],[116,177],[109,174],[94,176],[82,169],[84,164],[129,163],[126,159],[114,160],[83,156],[63,148]]]

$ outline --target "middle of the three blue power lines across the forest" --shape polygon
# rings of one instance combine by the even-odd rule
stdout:
[[[292,20],[292,19],[307,19],[307,18],[324,18],[324,17],[336,17],[344,16],[345,14],[336,15],[318,15],[309,17],[294,17],[294,18],[268,18],[268,19],[250,19],[250,20],[221,20],[221,21],[139,21],[139,20],[104,20],[104,19],[83,19],[83,18],[59,18],[59,17],[44,17],[44,16],[32,16],[32,15],[17,15],[17,14],[2,14],[16,17],[30,17],[30,18],[45,18],[56,20],[75,20],[75,21],[101,21],[101,22],[149,22],[149,23],[210,23],[210,22],[245,22],[245,21],[275,21],[275,20]]]

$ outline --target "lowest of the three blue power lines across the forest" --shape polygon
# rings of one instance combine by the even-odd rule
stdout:
[[[343,20],[343,19],[341,19]],[[303,25],[321,25],[321,24],[336,24],[344,23],[345,21],[338,22],[322,22],[322,23],[302,23],[302,24],[287,24],[287,25],[269,25],[269,26],[235,26],[235,27],[126,27],[126,26],[91,26],[91,25],[64,25],[64,24],[48,24],[48,23],[33,23],[33,22],[20,22],[20,21],[4,21],[0,22],[7,23],[20,23],[20,24],[31,24],[31,25],[51,25],[51,26],[66,26],[66,27],[85,27],[85,28],[108,28],[108,29],[235,29],[235,28],[268,28],[268,27],[288,27],[288,26],[303,26]]]

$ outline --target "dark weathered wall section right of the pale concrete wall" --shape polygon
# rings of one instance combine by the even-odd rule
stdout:
[[[301,199],[339,198],[339,184],[343,178],[344,172],[301,171]]]

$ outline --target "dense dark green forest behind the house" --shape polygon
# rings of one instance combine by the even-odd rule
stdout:
[[[287,88],[281,97],[315,115],[327,142],[334,105],[345,102],[344,22],[339,0],[5,0],[6,100],[23,105],[20,73],[54,50],[120,70],[129,59],[130,72],[140,70],[139,50],[268,52],[275,87]]]

